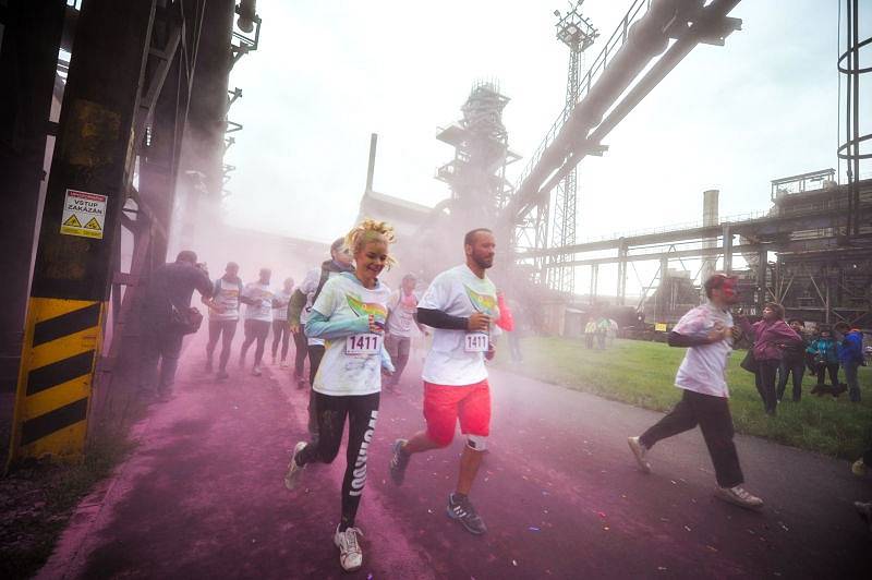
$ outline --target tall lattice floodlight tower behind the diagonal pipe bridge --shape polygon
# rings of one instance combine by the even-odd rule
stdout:
[[[562,15],[559,10],[554,11],[554,15],[557,16],[557,24],[555,25],[557,39],[569,47],[569,73],[566,83],[566,108],[564,109],[565,121],[569,118],[579,99],[581,55],[600,36],[600,32],[593,27],[591,21],[581,15],[581,4],[583,3],[584,0],[578,0],[574,4],[570,4],[571,10]],[[554,228],[552,230],[552,245],[554,246],[576,243],[577,171],[578,169],[572,169],[557,185]],[[554,258],[554,263],[560,264],[569,259],[569,256],[560,255]],[[557,265],[548,269],[547,283],[555,290],[572,294],[576,286],[574,278],[574,268],[572,266]]]

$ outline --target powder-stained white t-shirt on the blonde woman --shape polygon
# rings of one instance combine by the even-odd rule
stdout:
[[[372,314],[385,323],[390,289],[378,282],[372,290],[354,275],[337,275],[325,282],[312,310],[331,322],[354,321]],[[377,337],[377,338],[376,338]],[[382,335],[361,334],[325,340],[324,358],[312,388],[324,395],[371,395],[382,390]],[[352,352],[358,349],[359,352]]]

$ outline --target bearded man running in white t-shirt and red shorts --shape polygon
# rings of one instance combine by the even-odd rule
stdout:
[[[491,331],[499,309],[497,289],[485,270],[494,265],[494,233],[485,228],[472,230],[463,247],[467,263],[436,276],[417,304],[417,322],[434,329],[423,372],[427,428],[395,442],[390,475],[401,484],[410,457],[447,447],[460,420],[467,446],[447,512],[469,532],[483,534],[487,527],[469,493],[491,432],[491,387],[484,361],[495,354]]]

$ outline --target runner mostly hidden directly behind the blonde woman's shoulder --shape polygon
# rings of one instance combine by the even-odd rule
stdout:
[[[291,295],[291,303],[288,305],[288,322],[291,325],[291,333],[294,336],[305,335],[302,333],[303,327],[308,322],[308,314],[312,312],[312,306],[318,298],[318,293],[328,279],[339,276],[343,271],[353,271],[351,266],[352,257],[346,247],[344,238],[339,238],[330,245],[330,259],[325,261],[320,268],[310,270],[303,282],[296,288]],[[318,337],[306,338],[306,351],[308,352],[308,385],[315,382],[315,375],[318,373],[318,364],[324,357],[324,340]],[[306,382],[302,376],[302,367],[299,368],[296,375],[296,387],[305,388]],[[298,368],[294,368],[298,373]],[[302,387],[301,387],[302,385]],[[317,412],[315,409],[315,392],[310,388],[308,392],[308,433],[313,438],[318,436],[318,422],[316,420]]]

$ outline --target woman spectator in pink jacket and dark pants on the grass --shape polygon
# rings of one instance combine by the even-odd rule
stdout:
[[[738,319],[739,326],[754,341],[752,347],[756,361],[754,384],[763,399],[766,414],[774,415],[777,398],[775,396],[775,376],[782,362],[782,352],[787,345],[802,343],[796,330],[784,322],[784,306],[776,302],[766,302],[763,306],[763,319],[753,325],[748,318]]]

